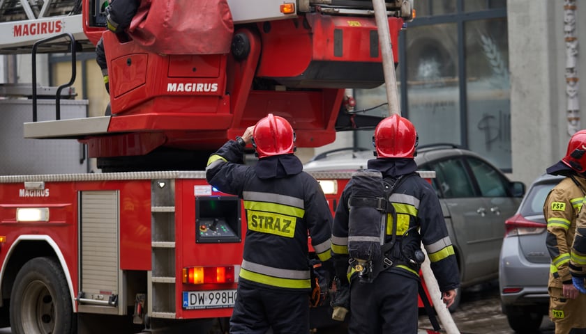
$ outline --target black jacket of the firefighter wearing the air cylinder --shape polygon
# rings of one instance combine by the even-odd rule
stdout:
[[[384,178],[397,178],[399,175],[414,173],[417,169],[413,159],[373,159],[368,161],[368,168],[380,170]],[[332,255],[338,277],[348,269],[348,200],[352,193],[352,180],[347,184],[336,208],[332,228]],[[458,264],[453,246],[448,235],[440,201],[431,184],[419,175],[406,177],[398,184],[389,198],[397,213],[396,234],[405,257],[409,258],[415,249],[425,246],[430,260],[430,267],[442,292],[460,286]],[[387,218],[385,242],[392,239],[392,218]],[[408,235],[405,235],[405,232]],[[405,240],[402,240],[405,239]],[[395,247],[397,247],[395,246]],[[391,252],[397,255],[397,251]],[[393,259],[398,265],[390,270],[407,278],[419,279],[419,267],[405,265],[405,258]],[[398,261],[397,261],[398,260]],[[403,261],[401,261],[403,260]],[[352,269],[353,270],[353,269]],[[352,272],[350,273],[352,275]]]

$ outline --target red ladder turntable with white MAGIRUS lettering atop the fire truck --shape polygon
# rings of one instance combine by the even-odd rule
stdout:
[[[22,2],[27,1],[21,1],[21,9],[29,13]],[[24,136],[76,138],[87,144],[89,157],[97,157],[98,164],[102,161],[102,168],[112,163],[114,169],[125,170],[129,168],[126,157],[158,151],[202,152],[205,159],[210,150],[266,113],[275,113],[292,122],[298,147],[319,147],[336,138],[345,88],[375,88],[384,83],[372,2],[298,0],[292,2],[294,11],[285,13],[280,3],[269,0],[227,2],[234,24],[229,53],[162,55],[145,51],[136,40],[119,40],[105,31],[103,1],[83,0],[84,38],[71,33],[73,45],[63,43],[61,50],[91,49],[88,45],[103,37],[112,114],[27,122]],[[66,1],[47,3],[61,6]],[[68,15],[80,15],[76,4],[70,1]],[[412,18],[412,1],[387,0],[384,8],[391,42],[396,45],[398,32]],[[38,20],[27,22],[35,26]],[[59,40],[41,42],[37,51],[57,49]],[[8,49],[0,45],[0,52],[8,53]],[[187,160],[194,161],[193,157]],[[155,161],[161,161],[160,157]],[[144,161],[140,165],[153,168]]]

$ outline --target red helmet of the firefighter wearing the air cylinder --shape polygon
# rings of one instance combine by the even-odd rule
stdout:
[[[373,136],[379,158],[413,158],[417,141],[412,122],[397,114],[381,120]]]

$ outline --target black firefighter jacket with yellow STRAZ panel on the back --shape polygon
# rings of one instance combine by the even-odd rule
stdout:
[[[239,283],[308,292],[308,231],[320,260],[329,264],[331,258],[332,216],[324,193],[293,154],[265,157],[255,166],[240,164],[242,158],[242,146],[228,141],[206,167],[209,184],[243,199],[248,230]]]

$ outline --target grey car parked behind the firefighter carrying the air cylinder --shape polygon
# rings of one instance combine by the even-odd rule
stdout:
[[[375,159],[373,150],[334,150],[318,154],[304,170],[358,170],[367,168],[369,159]],[[516,212],[525,185],[511,182],[479,154],[456,145],[420,147],[415,161],[419,170],[435,170],[432,184],[458,258],[462,287],[495,280],[504,236],[502,222]]]

